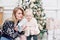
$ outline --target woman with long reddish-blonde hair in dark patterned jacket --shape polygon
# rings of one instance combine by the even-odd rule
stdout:
[[[18,21],[21,21],[23,19],[23,16],[24,16],[24,11],[22,8],[16,7],[13,10],[12,18],[6,20],[3,24],[3,30],[2,30],[3,34],[2,34],[1,40],[15,39],[12,35],[14,34],[14,32],[18,31],[16,25],[18,24]]]

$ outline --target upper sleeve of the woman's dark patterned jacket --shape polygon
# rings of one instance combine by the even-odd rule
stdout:
[[[3,32],[6,34],[10,34],[14,31],[14,22],[13,21],[5,21],[3,24]]]

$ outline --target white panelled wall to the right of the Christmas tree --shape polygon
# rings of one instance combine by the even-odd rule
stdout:
[[[42,0],[47,17],[60,20],[60,0]]]

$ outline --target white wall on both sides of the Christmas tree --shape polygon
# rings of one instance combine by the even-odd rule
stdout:
[[[43,8],[47,17],[52,17],[54,19],[60,19],[60,0],[42,0]],[[4,7],[4,17],[11,17],[12,9],[17,6],[18,0],[0,0],[0,6]]]

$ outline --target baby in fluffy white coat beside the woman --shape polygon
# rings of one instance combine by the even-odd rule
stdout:
[[[37,35],[40,33],[37,20],[33,17],[32,12],[32,9],[26,9],[24,19],[18,23],[18,31],[21,32],[24,30],[26,36]]]

